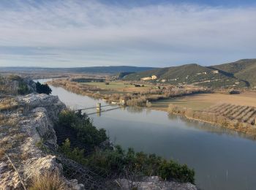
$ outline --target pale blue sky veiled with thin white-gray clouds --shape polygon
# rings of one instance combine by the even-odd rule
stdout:
[[[255,0],[0,1],[0,66],[207,66],[241,58],[256,58]]]

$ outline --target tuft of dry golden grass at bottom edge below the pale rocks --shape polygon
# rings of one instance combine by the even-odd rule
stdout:
[[[66,190],[67,185],[59,172],[45,172],[43,175],[36,175],[29,190]]]

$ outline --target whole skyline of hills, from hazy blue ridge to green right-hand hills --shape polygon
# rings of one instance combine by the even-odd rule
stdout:
[[[185,64],[165,68],[138,66],[89,66],[75,68],[0,67],[0,72],[63,72],[118,74],[123,80],[146,80],[173,85],[194,84],[208,87],[256,88],[256,58],[214,66]]]

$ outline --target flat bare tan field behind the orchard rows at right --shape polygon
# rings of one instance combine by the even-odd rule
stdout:
[[[167,110],[169,104],[187,107],[192,110],[205,110],[214,104],[237,104],[241,106],[256,107],[256,93],[244,92],[241,94],[196,94],[174,99],[159,100],[152,102],[154,110]]]

